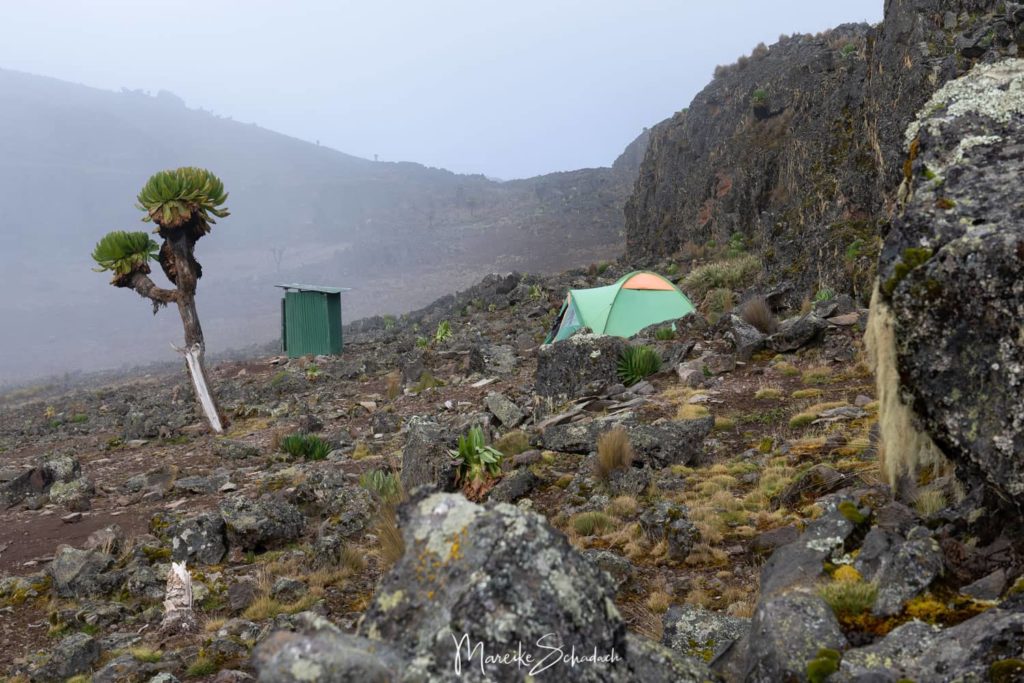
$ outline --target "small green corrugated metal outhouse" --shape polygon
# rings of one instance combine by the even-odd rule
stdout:
[[[344,287],[278,285],[281,299],[281,342],[290,358],[341,353],[341,293]]]

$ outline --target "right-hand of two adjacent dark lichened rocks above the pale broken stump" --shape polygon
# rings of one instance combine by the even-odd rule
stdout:
[[[220,504],[220,516],[229,546],[264,551],[295,541],[302,536],[305,518],[294,505],[270,496],[259,500],[242,497]]]

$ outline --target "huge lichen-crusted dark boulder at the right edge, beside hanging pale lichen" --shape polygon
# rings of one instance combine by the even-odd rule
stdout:
[[[906,132],[880,295],[925,429],[967,480],[1024,507],[1024,60],[946,83]]]

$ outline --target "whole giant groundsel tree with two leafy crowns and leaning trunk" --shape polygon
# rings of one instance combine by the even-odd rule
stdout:
[[[92,258],[97,271],[111,270],[111,284],[135,290],[153,302],[153,312],[175,303],[185,332],[182,350],[191,374],[196,395],[206,413],[210,426],[223,431],[216,401],[210,392],[204,368],[206,345],[203,328],[196,311],[196,285],[203,268],[196,260],[196,243],[210,231],[210,226],[223,218],[227,209],[224,184],[217,176],[202,168],[179,168],[161,171],[150,178],[138,194],[137,207],[145,212],[143,221],[157,225],[154,233],[163,239],[158,245],[146,232],[108,233],[96,244]],[[150,278],[150,261],[160,263],[174,289],[158,287]]]

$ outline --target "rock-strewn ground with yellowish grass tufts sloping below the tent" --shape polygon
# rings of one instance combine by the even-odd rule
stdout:
[[[774,667],[760,680],[777,680],[804,674],[820,648],[890,647],[883,636],[908,628],[976,614],[1021,628],[1024,613],[996,607],[1016,579],[1004,568],[1012,548],[971,548],[971,562],[953,565],[941,550],[944,501],[906,507],[881,483],[866,311],[843,297],[808,302],[766,337],[706,309],[714,325],[691,316],[674,334],[659,326],[631,342],[581,335],[539,349],[567,287],[618,274],[492,276],[406,318],[351,326],[338,358],[218,366],[231,420],[222,437],[205,429],[182,375],[5,408],[0,668],[12,680],[300,680],[295,660],[318,643],[347,653],[324,655],[340,676],[330,680],[355,680],[345,676],[356,665],[371,672],[362,680],[388,680],[413,660],[433,680],[452,648],[424,653],[430,638],[411,634],[440,628],[424,614],[446,604],[453,624],[513,642],[487,613],[496,601],[515,623],[628,653],[614,680],[643,667],[653,667],[645,680],[741,677],[730,670],[745,666],[740,649]],[[438,339],[443,323],[452,335]],[[629,388],[615,370],[628,344],[663,359]],[[461,486],[447,449],[473,425],[505,458],[500,475]],[[605,476],[597,442],[618,426],[635,459]],[[304,433],[327,442],[323,460],[284,452],[288,435]],[[374,472],[413,495],[398,511],[404,554]],[[424,483],[484,507],[442,501],[467,521],[431,530],[424,510],[441,499]],[[534,530],[501,543],[517,524]],[[489,581],[438,562],[443,579],[431,577],[446,592],[407,605],[424,589],[415,548],[453,532],[447,560],[485,553],[473,566],[487,566]],[[545,589],[528,577],[546,553],[568,588],[538,600]],[[172,560],[191,572],[196,633],[161,628]],[[794,602],[796,583],[819,583],[821,597]],[[874,587],[873,610],[847,604],[848,584]],[[575,614],[564,591],[597,600],[600,614]],[[788,602],[765,611],[771,600]],[[809,613],[820,632],[795,650],[786,620]],[[771,637],[759,637],[766,621]]]

